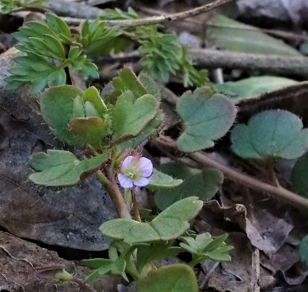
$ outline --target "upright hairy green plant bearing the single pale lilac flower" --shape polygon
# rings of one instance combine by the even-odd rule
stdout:
[[[154,262],[181,251],[193,254],[191,267],[205,259],[230,261],[228,252],[231,247],[226,247],[226,237],[213,241],[209,234],[204,240],[197,236],[192,239],[204,244],[193,249],[192,241],[184,236],[189,222],[203,205],[196,196],[175,198],[173,204],[153,220],[142,220],[135,189],[145,187],[155,192],[176,188],[182,180],[154,169],[151,160],[134,150],[157,134],[162,121],[159,92],[155,90],[154,81],[143,74],[138,78],[130,69],[124,68],[113,79],[112,88],[103,97],[94,87],[84,92],[69,85],[45,90],[40,103],[45,122],[54,135],[67,144],[82,144],[83,159],[69,151],[48,150],[31,155],[29,161],[35,170],[29,180],[37,185],[68,187],[94,174],[114,202],[120,218],[105,222],[99,228],[104,236],[112,239],[109,259],[86,260],[85,263],[94,270],[85,283],[105,274],[117,274],[126,280],[128,277],[135,279],[142,292],[148,291],[154,281],[151,280],[152,273],[148,274]],[[205,89],[199,91],[199,97],[209,98]],[[219,184],[222,178],[220,174],[215,175],[219,177]],[[213,191],[211,194],[214,195]],[[178,244],[178,239],[183,244]],[[180,273],[183,279],[188,277],[188,284],[197,287],[191,268],[174,265],[169,269],[172,274]],[[156,277],[162,285],[173,285],[173,276],[165,277],[159,269]]]

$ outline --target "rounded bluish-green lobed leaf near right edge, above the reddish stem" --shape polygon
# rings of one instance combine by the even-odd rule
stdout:
[[[232,151],[243,158],[295,159],[308,148],[308,130],[301,119],[280,109],[255,114],[248,124],[238,124],[231,131]]]

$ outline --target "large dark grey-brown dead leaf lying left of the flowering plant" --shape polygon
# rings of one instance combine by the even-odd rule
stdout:
[[[11,56],[0,56],[0,225],[14,235],[47,244],[106,249],[109,241],[98,227],[114,216],[114,209],[96,180],[66,189],[41,188],[28,181],[33,151],[64,145],[37,114],[37,97],[25,89],[3,91]]]

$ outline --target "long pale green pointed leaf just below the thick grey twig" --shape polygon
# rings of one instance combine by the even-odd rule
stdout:
[[[297,83],[298,81],[283,77],[258,76],[234,82],[230,81],[224,84],[213,84],[213,88],[232,99],[237,99],[252,97]]]

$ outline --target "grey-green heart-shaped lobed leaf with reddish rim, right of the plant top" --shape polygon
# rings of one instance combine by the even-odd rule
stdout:
[[[184,131],[176,141],[183,152],[213,147],[213,140],[228,132],[236,115],[235,105],[228,97],[211,96],[206,87],[184,93],[176,104],[176,111],[184,122]]]

